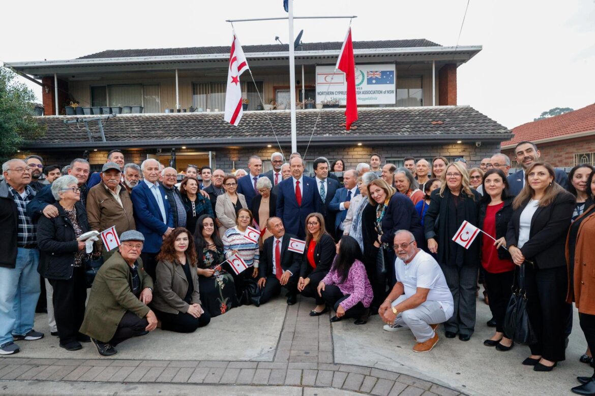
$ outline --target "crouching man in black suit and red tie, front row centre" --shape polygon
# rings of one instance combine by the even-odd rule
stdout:
[[[289,240],[295,235],[286,234],[283,221],[278,217],[267,220],[267,229],[273,236],[265,239],[258,267],[258,286],[262,289],[261,304],[281,293],[281,286],[288,290],[287,305],[296,303],[297,278],[302,264],[302,254],[288,250]]]

